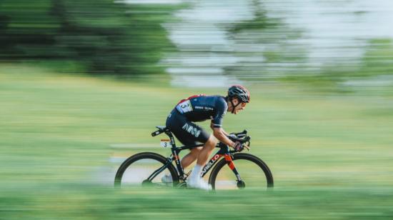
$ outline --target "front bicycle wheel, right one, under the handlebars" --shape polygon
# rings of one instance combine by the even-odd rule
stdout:
[[[267,189],[273,187],[273,175],[267,164],[252,154],[233,154],[233,162],[242,181],[237,180],[227,161],[222,159],[214,166],[209,184],[215,190]]]

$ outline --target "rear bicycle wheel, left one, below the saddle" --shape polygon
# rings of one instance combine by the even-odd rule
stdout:
[[[169,179],[163,179],[163,176]],[[143,152],[130,156],[121,164],[114,179],[115,186],[174,186],[179,176],[173,164],[160,154]]]

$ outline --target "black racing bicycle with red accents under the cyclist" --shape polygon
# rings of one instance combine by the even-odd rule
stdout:
[[[186,186],[186,178],[190,172],[184,173],[179,152],[203,146],[203,144],[176,147],[174,136],[168,128],[165,126],[156,126],[156,128],[158,130],[151,133],[151,136],[162,133],[169,136],[169,140],[161,140],[161,145],[164,147],[170,146],[171,155],[165,158],[161,154],[142,152],[130,156],[119,166],[114,180],[115,186]],[[248,146],[247,149],[251,144],[251,137],[247,136],[246,130],[229,135],[229,139],[241,141],[242,144]],[[274,186],[272,172],[262,159],[252,154],[231,150],[229,146],[221,142],[216,147],[219,148],[219,151],[207,162],[201,173],[201,176],[204,177],[212,169],[209,184],[212,185],[213,190],[269,189]],[[172,164],[173,161],[176,167]],[[242,176],[240,172],[242,172]],[[171,180],[163,182],[161,179],[164,174],[166,176],[170,174]]]

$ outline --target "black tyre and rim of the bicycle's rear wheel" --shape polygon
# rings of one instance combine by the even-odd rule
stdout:
[[[137,162],[140,162],[142,160],[147,160],[150,161],[151,163],[157,163],[154,167],[154,169],[151,169],[151,173],[155,170],[155,169],[159,169],[159,167],[161,165],[166,164],[167,159],[164,156],[161,156],[160,154],[156,154],[156,153],[152,153],[152,152],[142,152],[139,154],[134,154],[133,156],[130,156],[128,159],[126,159],[121,166],[119,166],[119,169],[116,172],[116,176],[114,178],[114,186],[119,187],[122,184],[122,179],[124,178],[124,173],[127,169],[130,168],[130,166],[132,166],[133,164],[136,164]],[[161,165],[159,165],[161,164]],[[142,163],[141,167],[144,167],[144,165],[146,165],[146,163]],[[166,171],[169,171],[169,173],[171,174],[172,177],[172,186],[175,186],[176,184],[179,183],[179,176],[177,174],[176,169],[174,168],[173,164],[169,164],[169,166],[166,167],[165,169]],[[164,172],[165,172],[164,170]],[[138,170],[136,170],[138,171]],[[131,176],[136,176],[136,171],[134,171],[134,173],[131,172]],[[161,172],[162,173],[162,172]],[[164,174],[164,173],[163,173]],[[138,171],[138,175],[139,171]],[[150,174],[146,174],[146,178],[149,176]],[[143,179],[143,178],[141,178]],[[142,181],[143,182],[143,181]],[[140,182],[140,184],[142,184],[142,182]],[[136,182],[136,184],[138,184],[138,182]]]

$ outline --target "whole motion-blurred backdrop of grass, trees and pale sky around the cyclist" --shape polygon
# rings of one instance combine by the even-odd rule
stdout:
[[[0,0],[0,219],[392,219],[393,1]],[[244,84],[274,191],[112,187]],[[202,123],[209,129],[209,123]]]

